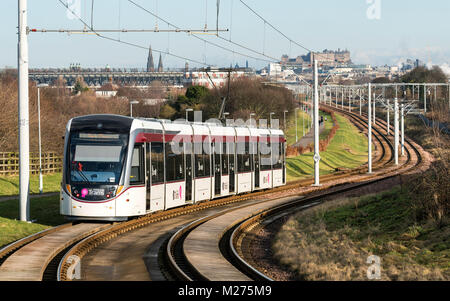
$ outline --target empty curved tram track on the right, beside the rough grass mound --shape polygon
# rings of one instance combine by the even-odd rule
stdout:
[[[350,115],[344,111],[340,113]],[[362,117],[353,114],[349,117],[362,120]],[[386,125],[381,120],[379,124]],[[375,127],[374,131],[376,135],[382,135],[385,141],[389,141],[382,129]],[[255,237],[252,235],[252,229],[261,229],[294,211],[305,210],[320,204],[323,199],[385,181],[418,168],[423,162],[423,150],[411,140],[405,141],[406,159],[398,168],[395,168],[395,171],[392,169],[388,172],[375,171],[375,175],[370,180],[343,185],[331,191],[321,191],[303,198],[282,197],[243,208],[233,208],[192,222],[171,238],[166,252],[168,265],[177,280],[271,280],[245,259],[251,257],[252,253],[248,249],[250,243],[245,242],[246,237]],[[392,154],[392,143],[389,141],[388,145]],[[390,157],[387,162],[392,161],[392,156]],[[380,166],[382,165],[380,163]]]

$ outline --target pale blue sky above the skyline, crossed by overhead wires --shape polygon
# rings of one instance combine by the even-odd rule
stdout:
[[[67,2],[68,0],[63,0]],[[76,0],[69,0],[76,1]],[[81,17],[90,23],[92,0],[79,0]],[[215,0],[133,0],[180,28],[201,29],[207,20],[215,28]],[[450,1],[445,0],[245,0],[270,23],[308,49],[349,49],[355,63],[397,64],[406,58],[444,65],[450,63]],[[94,27],[97,29],[153,29],[156,19],[128,0],[95,0]],[[380,6],[374,6],[380,4]],[[379,19],[369,18],[368,10],[380,7]],[[58,0],[28,0],[30,28],[79,29],[83,25],[67,16]],[[373,12],[373,11],[371,11]],[[375,11],[377,12],[377,11]],[[0,68],[16,66],[17,1],[0,1]],[[167,29],[163,21],[158,27]],[[245,45],[270,57],[297,56],[306,50],[289,43],[250,12],[240,0],[221,0],[219,27],[230,29],[226,39]],[[264,29],[265,28],[265,29]],[[113,38],[153,49],[169,51],[208,64],[229,66],[238,63],[262,67],[264,61],[205,45],[185,33],[113,33]],[[202,38],[234,51],[258,56],[217,37]],[[92,35],[31,33],[30,67],[138,67],[146,64],[147,51],[99,39]],[[158,53],[154,53],[155,61]],[[262,57],[262,56],[259,56]],[[262,57],[264,58],[264,57]],[[266,58],[267,59],[267,58]],[[165,67],[182,67],[184,60],[163,54]],[[195,66],[194,63],[191,63]]]

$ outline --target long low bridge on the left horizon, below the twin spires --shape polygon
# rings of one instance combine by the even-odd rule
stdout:
[[[101,86],[114,82],[125,86],[148,86],[152,81],[182,84],[185,73],[180,71],[145,72],[145,71],[85,71],[85,70],[30,70],[29,78],[38,84],[54,84],[64,79],[65,84],[74,86],[78,78],[89,86]]]

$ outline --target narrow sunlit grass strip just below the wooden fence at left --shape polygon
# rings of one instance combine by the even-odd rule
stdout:
[[[61,187],[61,173],[43,175],[43,192],[57,192]],[[30,176],[30,193],[39,193],[39,175]],[[19,176],[0,177],[0,196],[19,194]]]

